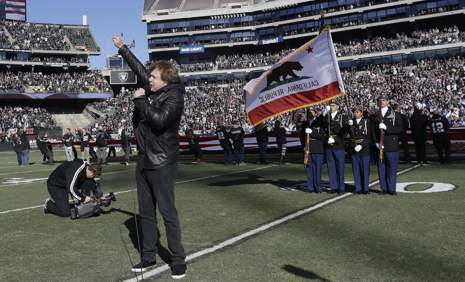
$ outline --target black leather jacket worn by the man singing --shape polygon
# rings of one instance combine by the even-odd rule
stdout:
[[[144,85],[149,84],[150,73],[142,63],[123,45],[118,53]],[[145,139],[142,167],[156,169],[178,160],[179,123],[184,112],[185,88],[182,84],[170,84],[133,99],[135,104],[133,125],[142,126],[140,113],[145,116]],[[139,141],[139,140],[138,140]],[[140,143],[140,142],[138,142]]]

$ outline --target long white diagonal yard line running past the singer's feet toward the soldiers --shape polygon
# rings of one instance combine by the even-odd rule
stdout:
[[[415,165],[415,166],[406,168],[406,169],[404,169],[403,171],[399,171],[399,172],[397,173],[397,175],[403,174],[403,173],[405,173],[405,172],[407,172],[407,171],[409,171],[409,170],[412,170],[412,169],[414,169],[414,168],[417,168],[418,166],[420,166],[420,165],[417,164],[417,165]],[[379,180],[376,180],[376,181],[370,183],[369,186],[371,187],[371,186],[376,185],[376,184],[378,184],[378,183],[379,183]],[[284,223],[284,222],[286,222],[286,221],[288,221],[288,220],[292,220],[292,219],[294,219],[294,218],[296,218],[296,217],[299,217],[299,216],[301,216],[301,215],[304,215],[304,214],[306,214],[306,213],[309,213],[309,212],[312,211],[312,210],[315,210],[315,209],[317,209],[317,208],[324,207],[324,206],[326,206],[326,205],[328,205],[328,204],[330,204],[330,203],[333,203],[333,202],[335,202],[335,201],[338,201],[338,200],[340,200],[340,199],[342,199],[342,198],[344,198],[344,197],[348,197],[348,196],[350,196],[350,195],[352,195],[352,193],[345,193],[345,194],[336,196],[336,197],[331,198],[331,199],[328,199],[328,200],[326,200],[326,201],[324,201],[324,202],[322,202],[322,203],[320,203],[320,204],[317,204],[317,205],[315,205],[315,206],[313,206],[313,207],[305,208],[305,209],[299,210],[299,211],[297,211],[297,212],[295,212],[295,213],[293,213],[293,214],[290,214],[290,215],[288,215],[288,216],[282,217],[282,218],[280,218],[280,219],[278,219],[278,220],[276,220],[276,221],[274,221],[274,222],[267,223],[267,224],[262,225],[262,226],[260,226],[260,227],[258,227],[258,228],[255,228],[255,229],[253,229],[253,230],[250,230],[250,231],[248,231],[248,232],[246,232],[246,233],[243,233],[243,234],[241,234],[241,235],[238,235],[238,236],[236,236],[236,237],[233,237],[233,238],[231,238],[231,239],[228,239],[228,240],[226,240],[226,241],[223,241],[223,242],[221,242],[221,243],[219,243],[219,244],[217,244],[217,245],[215,245],[215,246],[213,246],[213,247],[206,248],[206,249],[203,249],[203,250],[201,250],[201,251],[198,251],[198,252],[194,252],[194,253],[192,253],[192,254],[189,254],[188,256],[186,256],[186,262],[188,262],[188,261],[190,261],[190,260],[193,260],[193,259],[196,259],[196,258],[198,258],[198,257],[201,257],[201,256],[203,256],[203,255],[206,255],[206,254],[209,254],[209,253],[212,253],[212,252],[216,252],[217,250],[220,250],[220,249],[225,248],[225,247],[227,247],[227,246],[233,245],[233,244],[239,242],[240,240],[243,240],[243,239],[245,239],[245,238],[247,238],[247,237],[253,236],[253,235],[255,235],[255,234],[259,233],[259,232],[265,231],[265,230],[267,230],[267,229],[269,229],[269,228],[271,228],[271,227],[273,227],[273,226],[275,226],[275,225],[278,225],[278,224],[280,224],[280,223]],[[160,273],[162,273],[162,272],[164,272],[164,271],[166,271],[166,270],[168,270],[168,269],[170,269],[170,267],[169,267],[168,265],[163,265],[163,266],[157,267],[157,268],[155,268],[155,269],[153,269],[153,270],[146,271],[145,273],[143,273],[143,276],[144,276],[144,278],[149,278],[149,277],[155,276],[155,275],[157,275],[157,274],[160,274]],[[138,281],[139,281],[138,279],[140,279],[141,277],[140,277],[139,273],[137,274],[137,276],[139,276],[139,277],[134,277],[134,278],[125,280],[124,282],[138,282]]]

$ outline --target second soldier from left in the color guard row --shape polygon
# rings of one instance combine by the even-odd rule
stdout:
[[[345,143],[347,134],[347,116],[339,113],[341,103],[337,99],[329,101],[329,105],[323,110],[325,116],[326,141],[325,153],[328,165],[329,193],[343,194],[344,192],[344,161]],[[329,113],[328,113],[329,112]]]

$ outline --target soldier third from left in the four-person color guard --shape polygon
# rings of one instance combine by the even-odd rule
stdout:
[[[363,108],[356,106],[352,109],[354,118],[347,124],[353,126],[349,130],[350,140],[347,147],[351,150],[352,171],[354,172],[355,194],[369,194],[368,182],[370,178],[370,143],[371,122],[362,117]]]

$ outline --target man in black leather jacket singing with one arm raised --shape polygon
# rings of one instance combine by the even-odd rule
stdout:
[[[141,272],[156,265],[156,205],[163,217],[168,248],[172,255],[171,278],[186,275],[186,253],[181,244],[181,226],[174,206],[174,178],[178,172],[179,123],[184,112],[184,85],[176,69],[166,60],[156,61],[149,71],[123,44],[113,42],[144,85],[134,93],[133,122],[139,153],[136,165],[139,214],[142,222],[141,261],[131,270]]]

